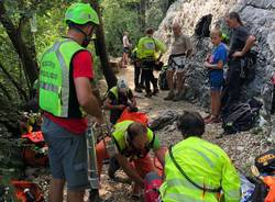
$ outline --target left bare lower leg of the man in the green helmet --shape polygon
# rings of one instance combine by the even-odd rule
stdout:
[[[51,179],[50,186],[50,201],[51,202],[63,202],[63,190],[65,180],[62,179]]]

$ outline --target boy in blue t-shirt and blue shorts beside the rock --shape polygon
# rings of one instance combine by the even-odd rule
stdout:
[[[211,90],[211,113],[205,119],[206,123],[219,121],[221,106],[221,89],[223,86],[223,66],[227,63],[227,46],[221,43],[222,32],[212,30],[210,33],[211,42],[215,46],[210,57],[205,61],[205,67],[209,70],[210,90]]]

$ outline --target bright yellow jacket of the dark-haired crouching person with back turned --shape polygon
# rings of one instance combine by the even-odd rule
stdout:
[[[240,179],[227,154],[217,145],[198,137],[188,137],[173,147],[173,156],[186,175],[199,187],[217,189],[223,179],[233,179],[222,189],[227,200],[240,200]],[[223,169],[227,169],[224,172]],[[164,202],[207,201],[217,202],[219,194],[204,191],[191,184],[176,168],[167,154],[165,157],[165,181],[161,187]],[[182,200],[180,200],[182,199]]]

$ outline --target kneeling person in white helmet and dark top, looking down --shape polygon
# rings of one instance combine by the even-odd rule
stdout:
[[[117,87],[111,88],[105,105],[110,110],[110,122],[112,124],[117,123],[127,108],[132,112],[138,111],[135,98],[125,79],[120,78]]]

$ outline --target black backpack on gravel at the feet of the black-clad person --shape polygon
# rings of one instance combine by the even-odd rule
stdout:
[[[222,114],[222,128],[226,134],[234,134],[241,131],[249,131],[258,119],[262,103],[255,99],[246,103],[235,103],[229,106],[226,114]]]

